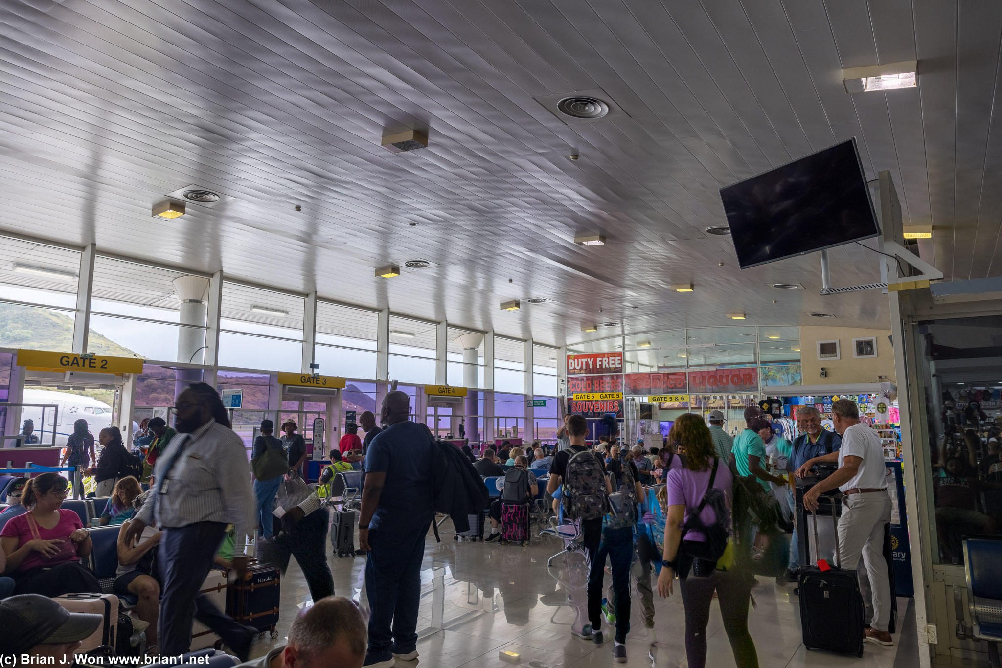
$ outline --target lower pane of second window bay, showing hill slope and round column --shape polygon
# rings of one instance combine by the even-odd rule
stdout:
[[[205,341],[205,329],[199,327],[182,327],[166,322],[91,314],[90,330],[96,336],[92,335],[88,340],[87,351],[99,355],[137,357],[156,362],[200,364],[204,351],[194,350],[187,353],[184,360],[178,359],[181,352],[177,349],[177,340],[182,329],[191,331],[197,342]],[[199,349],[200,346],[194,348]]]

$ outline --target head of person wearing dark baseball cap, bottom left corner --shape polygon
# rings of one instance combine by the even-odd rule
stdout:
[[[102,615],[69,612],[40,594],[11,596],[0,601],[0,628],[8,630],[0,634],[0,656],[13,656],[15,665],[70,665],[73,651],[103,622]]]

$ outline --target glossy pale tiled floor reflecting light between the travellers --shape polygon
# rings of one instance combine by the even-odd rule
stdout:
[[[684,617],[677,595],[656,596],[654,629],[643,629],[633,596],[633,631],[627,638],[626,664],[612,660],[612,641],[606,634],[604,645],[572,638],[571,625],[577,615],[568,603],[584,601],[585,571],[580,555],[558,558],[547,569],[547,559],[561,548],[547,539],[534,539],[527,548],[497,543],[455,542],[451,527],[442,527],[442,543],[429,533],[425,551],[420,639],[417,662],[398,662],[399,668],[424,665],[427,668],[477,668],[511,666],[499,659],[501,650],[521,655],[521,665],[532,668],[556,666],[626,665],[633,667],[686,666],[682,629]],[[365,558],[331,557],[335,591],[359,599]],[[562,584],[558,582],[562,581]],[[256,642],[253,656],[262,656],[273,643],[284,643],[295,611],[310,601],[310,592],[295,561],[282,583],[282,623],[279,639],[267,636]],[[915,647],[881,647],[867,643],[862,659],[825,652],[808,652],[801,644],[801,623],[793,586],[777,586],[760,578],[754,591],[756,607],[748,622],[763,668],[799,666],[858,666],[895,668],[917,665]],[[908,599],[899,599],[899,609],[907,610]],[[583,612],[582,612],[583,615]],[[733,666],[730,646],[723,632],[717,604],[709,627],[707,666]],[[896,636],[897,640],[899,636]],[[898,654],[902,653],[897,661]],[[652,661],[650,656],[654,657]]]

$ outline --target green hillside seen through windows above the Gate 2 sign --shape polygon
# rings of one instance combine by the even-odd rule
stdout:
[[[67,352],[73,344],[73,318],[58,310],[0,302],[0,348]],[[88,352],[138,358],[134,352],[90,330]]]

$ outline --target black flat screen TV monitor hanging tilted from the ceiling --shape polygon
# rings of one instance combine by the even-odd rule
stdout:
[[[742,269],[880,234],[856,139],[720,188]]]

